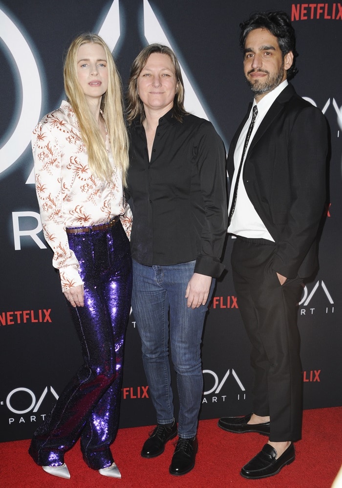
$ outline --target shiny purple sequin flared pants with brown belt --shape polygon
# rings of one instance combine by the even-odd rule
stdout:
[[[68,234],[80,263],[85,306],[69,305],[84,364],[36,430],[29,453],[40,466],[60,466],[81,438],[86,464],[113,463],[118,430],[126,326],[132,288],[129,242],[121,222],[105,231]]]

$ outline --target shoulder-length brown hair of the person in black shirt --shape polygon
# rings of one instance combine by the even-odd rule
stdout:
[[[139,115],[141,123],[143,123],[146,117],[144,104],[138,95],[137,80],[150,55],[154,52],[167,54],[170,57],[174,67],[178,89],[173,100],[173,116],[179,122],[182,122],[183,116],[188,114],[184,108],[184,83],[176,55],[168,46],[164,46],[163,44],[149,44],[142,51],[140,51],[130,68],[127,91],[127,121],[129,124],[131,124],[133,119]]]

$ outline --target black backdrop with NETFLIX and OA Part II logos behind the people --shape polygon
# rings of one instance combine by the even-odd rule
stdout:
[[[83,31],[113,50],[124,85],[138,52],[169,44],[181,62],[188,111],[210,119],[225,142],[251,94],[238,48],[239,22],[282,9],[298,37],[298,93],[331,130],[330,206],[321,268],[299,304],[304,408],[342,405],[342,3],[265,0],[0,0],[0,441],[27,439],[82,362],[52,253],[43,239],[30,138],[64,98],[63,54]],[[300,164],[300,161],[298,162]],[[203,336],[201,419],[251,408],[249,342],[229,272],[217,284]],[[121,427],[155,422],[134,317],[128,323]]]

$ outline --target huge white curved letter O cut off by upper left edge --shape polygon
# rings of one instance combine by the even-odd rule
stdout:
[[[22,106],[16,127],[0,148],[0,173],[22,155],[31,141],[31,130],[37,124],[42,106],[42,88],[37,63],[18,27],[0,10],[0,37],[11,52],[21,79]],[[34,89],[32,89],[34,87]]]

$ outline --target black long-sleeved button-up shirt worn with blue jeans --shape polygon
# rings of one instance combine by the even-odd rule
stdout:
[[[196,260],[217,277],[227,232],[223,142],[207,120],[172,110],[159,119],[151,158],[140,119],[130,126],[129,204],[132,258],[145,266]]]

